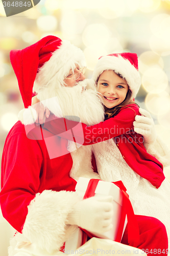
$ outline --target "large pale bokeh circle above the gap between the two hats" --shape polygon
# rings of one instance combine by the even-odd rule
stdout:
[[[85,28],[82,39],[85,46],[107,44],[111,36],[110,30],[104,24],[92,24]]]

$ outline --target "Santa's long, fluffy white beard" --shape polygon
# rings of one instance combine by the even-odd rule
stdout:
[[[45,95],[41,103],[57,117],[76,120],[76,116],[81,122],[93,125],[104,120],[104,108],[94,89],[93,81],[85,79],[77,86],[56,89],[53,98]],[[41,101],[41,94],[38,99]]]

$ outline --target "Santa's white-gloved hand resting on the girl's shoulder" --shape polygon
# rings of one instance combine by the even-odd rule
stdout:
[[[156,130],[154,120],[146,110],[139,109],[141,116],[136,116],[133,122],[134,131],[143,136],[145,143],[154,143],[156,140]]]

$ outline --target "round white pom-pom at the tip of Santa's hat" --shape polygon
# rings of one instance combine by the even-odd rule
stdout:
[[[28,109],[22,109],[18,114],[18,119],[22,124],[32,124],[37,119],[37,112],[31,106]]]

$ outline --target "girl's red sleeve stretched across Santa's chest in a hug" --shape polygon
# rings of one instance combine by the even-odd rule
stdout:
[[[122,109],[115,117],[91,126],[53,116],[43,127],[55,135],[82,145],[99,143],[129,133],[133,129],[135,116],[140,113],[137,105],[129,106],[130,108]]]

